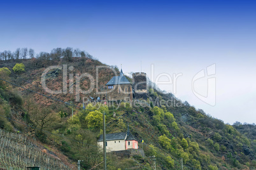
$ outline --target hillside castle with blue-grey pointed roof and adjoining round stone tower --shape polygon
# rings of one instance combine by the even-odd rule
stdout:
[[[132,83],[125,77],[121,69],[119,76],[114,76],[106,83],[106,100],[132,101],[133,98],[146,100],[146,73],[136,72],[132,74]]]

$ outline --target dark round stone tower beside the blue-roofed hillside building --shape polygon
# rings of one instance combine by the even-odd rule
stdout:
[[[132,74],[132,84],[134,89],[135,98],[143,98],[146,100],[147,86],[146,86],[146,73],[136,72]]]

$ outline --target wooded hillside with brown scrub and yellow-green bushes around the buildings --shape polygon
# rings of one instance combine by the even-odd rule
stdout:
[[[53,154],[65,154],[66,162],[73,165],[83,160],[82,169],[103,169],[102,150],[97,146],[103,133],[99,112],[106,112],[107,133],[125,132],[129,124],[139,148],[145,151],[145,157],[107,154],[108,169],[152,169],[153,155],[157,169],[181,169],[181,158],[183,169],[256,167],[255,124],[224,124],[155,86],[149,86],[146,105],[118,101],[108,105],[92,103],[83,109],[82,99],[95,98],[97,91],[104,91],[113,70],[119,73],[116,66],[103,64],[85,51],[55,48],[50,53],[36,54],[23,48],[3,51],[0,59],[0,128],[36,138]],[[44,73],[50,66],[53,69]],[[97,70],[97,66],[102,67]],[[79,83],[72,79],[84,73],[92,75],[92,79],[85,77]],[[89,90],[90,84],[96,83],[96,75],[98,86],[77,97],[76,89]],[[46,91],[42,77],[48,89],[61,93]],[[1,161],[0,154],[0,167]]]

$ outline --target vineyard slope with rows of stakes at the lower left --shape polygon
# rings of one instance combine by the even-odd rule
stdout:
[[[0,169],[26,169],[39,166],[43,169],[70,169],[59,159],[42,152],[27,137],[0,129]]]

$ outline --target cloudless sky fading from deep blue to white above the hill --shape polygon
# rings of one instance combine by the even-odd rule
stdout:
[[[256,1],[0,1],[0,51],[80,48],[124,72],[181,73],[176,96],[225,123],[256,123]],[[216,103],[192,91],[215,64]],[[160,77],[160,81],[167,77]],[[207,77],[194,90],[207,94]],[[214,85],[214,84],[213,84]],[[173,84],[159,85],[173,92]],[[212,92],[212,88],[208,89]],[[211,96],[213,97],[213,96]],[[214,98],[214,97],[213,97]]]

